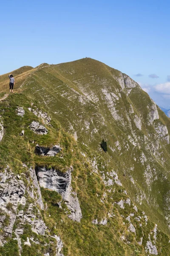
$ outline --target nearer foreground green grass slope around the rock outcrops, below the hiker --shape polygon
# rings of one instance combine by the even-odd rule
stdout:
[[[23,117],[17,115],[16,109],[18,106],[25,111]],[[42,119],[35,116],[28,108],[38,108],[46,111],[47,106],[44,105],[44,108],[42,108],[42,102],[34,101],[29,96],[24,96],[23,93],[11,94],[0,103],[0,113],[5,131],[0,143],[1,171],[3,172],[8,164],[15,175],[18,174],[24,177],[28,173],[23,168],[23,163],[26,163],[28,167],[54,167],[61,172],[65,172],[69,166],[73,166],[72,186],[73,190],[77,192],[83,218],[80,223],[69,219],[64,202],[62,202],[62,209],[57,206],[61,196],[57,192],[41,189],[42,198],[47,207],[45,207],[45,210],[41,210],[40,213],[49,233],[45,237],[37,236],[31,231],[30,225],[25,224],[24,233],[21,236],[21,255],[43,256],[44,253],[49,252],[50,256],[55,256],[56,253],[53,247],[49,247],[48,251],[45,247],[45,244],[49,243],[48,235],[50,234],[51,236],[61,237],[64,244],[64,256],[147,256],[148,253],[145,252],[145,247],[149,235],[151,241],[157,247],[158,255],[168,256],[170,251],[169,237],[157,230],[155,240],[153,233],[155,223],[150,218],[146,223],[142,212],[143,205],[139,207],[138,212],[134,209],[134,201],[131,201],[130,205],[125,204],[124,209],[120,208],[117,202],[129,199],[129,195],[125,193],[125,188],[116,183],[109,186],[108,183],[105,183],[107,179],[102,178],[104,176],[108,177],[113,168],[116,169],[120,156],[115,156],[115,160],[114,157],[112,159],[111,152],[104,153],[99,150],[97,152],[81,142],[76,142],[73,136],[62,128],[57,118],[52,118],[52,111],[51,123],[45,125],[48,134],[42,136],[34,134],[28,125],[33,120],[42,123]],[[19,134],[22,130],[25,131],[25,134],[21,137]],[[88,142],[88,137],[86,142]],[[34,152],[37,143],[41,146],[59,144],[62,151],[55,157],[37,156]],[[26,183],[26,179],[23,179],[23,181],[28,187],[29,184]],[[31,198],[28,197],[29,200],[31,203]],[[23,208],[24,212],[26,208],[28,208],[27,204]],[[110,217],[108,214],[110,214]],[[131,222],[136,228],[136,234],[128,231],[129,223],[126,218],[130,214]],[[140,223],[138,221],[139,216],[141,216]],[[108,220],[106,225],[92,223],[94,219],[101,221],[104,218]],[[19,222],[20,218],[16,219],[14,230]],[[7,221],[6,225],[8,225]],[[19,255],[17,240],[14,240],[14,230],[12,238],[8,238],[8,242],[0,247],[1,256]],[[2,232],[1,227],[1,234]],[[139,245],[138,242],[141,237],[143,237],[143,242],[142,245]],[[39,239],[40,242],[35,244],[30,240],[31,246],[29,247],[24,245],[27,238]]]

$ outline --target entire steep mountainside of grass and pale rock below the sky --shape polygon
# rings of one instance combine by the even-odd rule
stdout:
[[[0,105],[1,255],[169,255],[170,119],[91,58],[19,70]]]

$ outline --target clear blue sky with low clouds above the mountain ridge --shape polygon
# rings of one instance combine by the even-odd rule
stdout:
[[[0,25],[0,74],[87,56],[170,108],[170,1],[6,0]]]

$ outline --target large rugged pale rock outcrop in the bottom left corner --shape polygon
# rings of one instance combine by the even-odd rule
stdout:
[[[27,168],[25,164],[23,164],[23,167]],[[37,235],[45,236],[45,231],[49,233],[44,221],[42,220],[40,210],[37,208],[37,204],[39,204],[41,209],[44,209],[44,205],[35,170],[30,168],[27,171],[29,173],[28,177],[26,177],[28,181],[27,189],[22,180],[23,175],[15,175],[8,166],[3,172],[0,172],[0,228],[3,230],[0,234],[0,245],[3,246],[3,244],[6,243],[7,238],[12,236],[13,226],[17,219],[17,228],[15,229],[14,234],[15,240],[18,242],[20,255],[22,251],[20,236],[23,234],[23,226],[25,224],[30,224],[31,230],[34,233],[37,233]],[[26,196],[25,192],[28,193]],[[27,198],[29,198],[28,196],[34,199],[34,203],[29,202],[28,208],[24,211],[23,209],[19,210],[19,205],[20,207],[24,207],[26,205]],[[9,219],[9,224],[7,226],[3,226],[3,221],[6,217]],[[50,236],[48,237],[50,238]],[[27,238],[24,245],[31,246],[30,241],[40,244],[39,241],[34,241],[33,238]],[[57,237],[57,256],[63,256],[61,253],[62,246],[61,239]]]

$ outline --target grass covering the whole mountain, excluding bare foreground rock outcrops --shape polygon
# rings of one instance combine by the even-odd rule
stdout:
[[[135,81],[91,58],[23,67],[13,74],[18,94],[10,95],[1,104],[5,128],[0,145],[1,168],[8,164],[20,173],[23,162],[62,172],[74,167],[72,186],[82,209],[81,223],[71,221],[64,210],[55,206],[52,194],[42,189],[48,204],[42,216],[51,234],[62,238],[64,255],[147,255],[148,235],[155,241],[154,223],[160,230],[155,241],[158,255],[168,255],[170,119]],[[8,89],[5,77],[0,76],[1,92]],[[25,109],[23,119],[16,116],[17,106]],[[39,137],[29,130],[29,123],[40,119],[28,108],[41,109],[51,116],[48,135]],[[24,137],[18,135],[21,128]],[[102,139],[108,145],[106,153],[100,146]],[[42,158],[34,154],[37,143],[60,143],[63,151],[57,157]],[[113,171],[123,187],[116,183],[108,186]],[[55,196],[54,200],[58,200]],[[128,198],[131,204],[125,204],[124,209],[116,204]],[[147,225],[143,211],[149,218]],[[108,218],[108,214],[114,218]],[[130,214],[134,214],[136,234],[128,231],[126,218]],[[104,218],[106,225],[92,223]],[[142,246],[138,244],[141,237]]]

